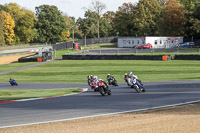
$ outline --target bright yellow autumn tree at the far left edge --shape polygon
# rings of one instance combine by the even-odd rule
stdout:
[[[11,15],[5,11],[2,11],[3,15],[3,33],[4,33],[4,39],[6,44],[13,44],[14,42],[14,27],[15,27],[15,22],[12,19]]]

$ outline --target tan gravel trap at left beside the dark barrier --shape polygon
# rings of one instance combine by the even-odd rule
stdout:
[[[32,55],[32,54],[0,56],[0,65],[18,62],[19,58],[24,57],[24,56],[29,56],[29,55]]]

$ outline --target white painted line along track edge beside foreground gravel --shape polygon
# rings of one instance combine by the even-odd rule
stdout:
[[[161,109],[161,108],[166,108],[166,107],[180,106],[180,105],[186,105],[186,104],[192,104],[192,103],[198,103],[198,102],[200,102],[200,100],[190,101],[190,102],[185,102],[185,103],[179,103],[179,104],[171,104],[171,105],[159,106],[159,107],[138,109],[138,110],[129,110],[129,111],[105,113],[105,114],[83,116],[83,117],[76,117],[76,118],[69,118],[69,119],[61,119],[61,120],[53,120],[53,121],[44,121],[44,122],[35,122],[35,123],[27,123],[27,124],[19,124],[19,125],[2,126],[2,127],[0,127],[0,129],[1,128],[19,127],[19,126],[30,126],[30,125],[37,125],[37,124],[46,124],[46,123],[53,123],[53,122],[64,122],[64,121],[70,121],[70,120],[85,119],[85,118],[100,117],[100,116],[108,116],[108,115],[116,115],[116,114],[133,113],[133,112]]]

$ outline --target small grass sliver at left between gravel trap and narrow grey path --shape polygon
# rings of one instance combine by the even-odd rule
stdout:
[[[0,65],[0,72],[4,72],[4,71],[8,71],[8,70],[12,70],[19,67],[36,64],[36,63],[38,62],[3,64],[3,65]]]

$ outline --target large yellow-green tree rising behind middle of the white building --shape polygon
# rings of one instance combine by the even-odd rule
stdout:
[[[140,0],[136,6],[135,24],[137,34],[155,36],[158,35],[158,20],[161,17],[161,5],[158,0]]]

